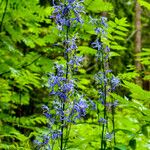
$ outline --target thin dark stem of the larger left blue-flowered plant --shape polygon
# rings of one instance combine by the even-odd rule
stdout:
[[[68,48],[68,39],[69,39],[69,27],[67,26],[67,30],[66,30],[66,48]],[[69,55],[68,53],[66,53],[66,82],[68,80],[68,73],[69,73],[69,66],[68,66],[68,62],[69,62]],[[65,110],[65,102],[62,101],[62,110],[64,112]],[[62,121],[61,121],[61,144],[60,144],[60,149],[63,150],[63,141],[64,141],[64,117],[62,117]]]

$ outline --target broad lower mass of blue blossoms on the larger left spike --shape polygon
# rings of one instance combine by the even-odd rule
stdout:
[[[78,119],[84,117],[90,105],[83,96],[78,94],[75,81],[66,78],[64,67],[56,64],[55,68],[56,73],[50,74],[48,82],[50,96],[53,97],[52,108],[50,110],[46,105],[42,106],[43,114],[48,119],[50,132],[46,135],[47,138],[44,136],[43,142],[36,141],[39,147],[49,145],[50,140],[60,140],[64,135],[64,129],[68,130],[68,124],[75,124]]]

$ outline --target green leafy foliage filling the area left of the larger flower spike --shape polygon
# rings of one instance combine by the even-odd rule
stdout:
[[[49,39],[52,26],[41,26],[51,23],[51,10],[37,0],[1,1],[0,8],[0,18],[4,15],[0,32],[0,149],[28,150],[34,139],[30,135],[46,124],[45,118],[34,115],[39,111],[35,105],[43,101],[40,93],[45,91],[45,75],[53,63],[46,56],[51,49],[42,48],[57,38]]]

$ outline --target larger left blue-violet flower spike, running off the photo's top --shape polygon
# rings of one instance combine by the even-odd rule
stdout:
[[[49,132],[43,136],[41,142],[35,141],[37,148],[53,149],[54,141],[59,141],[60,149],[65,148],[64,141],[69,135],[68,126],[86,115],[88,102],[77,91],[76,81],[72,74],[83,61],[77,56],[77,34],[73,29],[82,24],[81,13],[84,13],[82,0],[65,0],[64,3],[53,0],[53,14],[50,17],[60,30],[64,47],[65,64],[55,64],[54,73],[49,74],[50,97],[53,98],[51,109],[42,106],[43,114],[48,119]],[[64,130],[66,132],[64,132]],[[64,140],[65,137],[65,140]]]

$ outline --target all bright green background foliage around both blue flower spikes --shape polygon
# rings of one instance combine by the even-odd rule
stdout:
[[[115,2],[116,5],[122,4],[119,0]],[[133,2],[131,3],[133,5]],[[150,9],[148,2],[139,0],[139,3]],[[131,45],[127,43],[127,36],[133,24],[129,18],[133,16],[123,17],[127,7],[113,8],[112,3],[103,0],[85,0],[84,4],[89,14],[98,17],[105,11],[110,17],[107,38],[102,41],[111,48],[110,67],[115,73],[121,70],[118,76],[123,87],[118,88],[119,95],[110,95],[119,101],[115,112],[117,143],[114,149],[148,149],[150,92],[133,83],[138,74],[133,67],[134,54]],[[123,6],[127,6],[126,2]],[[0,31],[0,149],[31,150],[34,149],[32,142],[35,136],[47,132],[44,128],[47,120],[41,116],[41,105],[51,104],[52,99],[48,98],[47,74],[54,71],[54,61],[65,64],[62,57],[63,47],[53,45],[60,41],[60,37],[49,19],[52,12],[50,6],[41,7],[37,0],[11,0],[6,11],[5,8],[6,1],[1,0],[0,19],[5,15]],[[131,8],[128,13],[131,13]],[[122,12],[123,16],[114,18],[114,9],[119,9],[118,12]],[[98,92],[95,90],[93,78],[98,66],[95,65],[94,59],[96,50],[90,45],[95,33],[87,14],[84,18],[85,24],[82,28],[77,28],[81,37],[81,41],[78,41],[81,44],[78,55],[84,56],[84,62],[74,77],[77,78],[81,93],[84,92],[97,103]],[[133,39],[131,42],[133,44]],[[150,79],[148,46],[144,45],[147,48],[143,48],[139,54],[144,66],[141,73],[147,81]],[[83,121],[71,127],[68,150],[99,149],[101,128],[97,118],[96,112],[88,112]],[[58,143],[56,145],[58,146]]]

